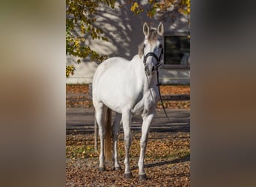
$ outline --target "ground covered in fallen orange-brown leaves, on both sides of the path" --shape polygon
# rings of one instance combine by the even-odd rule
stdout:
[[[67,107],[91,107],[87,85],[67,85]],[[162,95],[190,94],[189,86],[163,86]],[[85,94],[79,98],[78,94]],[[73,95],[72,95],[73,94]],[[81,94],[80,94],[81,95]],[[68,97],[68,96],[67,96]],[[76,97],[74,99],[74,97]],[[78,99],[77,99],[78,98]],[[189,110],[190,102],[165,102],[167,108]],[[189,103],[189,104],[188,104]],[[161,108],[161,106],[159,106]],[[124,137],[118,141],[118,156],[123,171],[113,171],[107,162],[106,171],[98,171],[99,151],[94,150],[94,134],[66,136],[66,186],[190,186],[189,132],[150,132],[145,154],[147,180],[138,180],[140,132],[132,132],[130,165],[132,179],[124,179]],[[100,147],[100,145],[98,145]]]

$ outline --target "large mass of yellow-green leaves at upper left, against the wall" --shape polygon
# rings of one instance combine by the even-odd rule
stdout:
[[[77,57],[77,63],[82,58],[90,58],[91,61],[104,61],[106,55],[100,55],[85,44],[85,37],[88,40],[105,40],[103,30],[97,28],[96,13],[102,4],[114,8],[116,0],[66,0],[66,55]],[[66,76],[73,75],[75,67],[66,66]]]

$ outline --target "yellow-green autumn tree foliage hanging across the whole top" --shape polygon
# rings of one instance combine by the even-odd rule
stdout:
[[[95,24],[97,22],[96,14],[102,5],[114,8],[115,1],[66,0],[66,55],[77,57],[78,64],[83,58],[90,58],[91,61],[106,60],[106,55],[100,55],[90,46],[85,45],[85,36],[91,37],[90,40],[108,41],[108,38],[104,37],[103,30]],[[146,4],[141,4],[141,1],[127,0],[120,7],[123,6],[129,6],[135,14],[145,11],[150,18],[157,16],[160,20],[170,19],[168,13],[172,13],[171,15],[174,15],[175,12],[190,14],[190,0],[147,0]],[[66,65],[66,76],[73,75],[75,70],[73,65]]]

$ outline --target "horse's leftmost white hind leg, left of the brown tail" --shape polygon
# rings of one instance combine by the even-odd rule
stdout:
[[[99,171],[105,171],[105,156],[104,156],[104,138],[105,138],[105,126],[104,126],[104,117],[106,113],[106,107],[103,105],[102,102],[97,102],[95,105],[95,112],[96,112],[96,120],[99,126],[99,136],[100,136],[100,165]]]

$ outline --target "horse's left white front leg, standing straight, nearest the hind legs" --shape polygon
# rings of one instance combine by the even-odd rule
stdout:
[[[132,173],[129,168],[129,147],[131,145],[131,119],[132,114],[130,111],[123,111],[122,113],[122,123],[124,127],[124,147],[125,147],[125,159],[124,159],[124,165],[125,165],[125,171],[124,171],[124,177],[127,179],[132,178]]]

